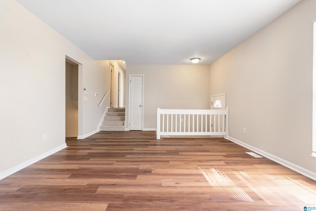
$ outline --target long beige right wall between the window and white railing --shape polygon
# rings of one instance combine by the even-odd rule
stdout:
[[[316,1],[303,0],[215,61],[210,91],[227,93],[232,139],[316,178],[310,156],[315,19]]]

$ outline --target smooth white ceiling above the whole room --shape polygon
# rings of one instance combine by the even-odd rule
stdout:
[[[211,64],[300,0],[17,0],[96,60]]]

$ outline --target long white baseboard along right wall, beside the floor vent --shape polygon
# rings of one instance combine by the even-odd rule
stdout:
[[[243,147],[245,147],[245,148],[247,148],[247,149],[249,149],[251,151],[254,151],[254,152],[258,153],[258,154],[262,155],[263,157],[266,157],[266,158],[268,158],[268,159],[270,159],[272,161],[275,161],[276,163],[278,163],[278,164],[280,164],[280,165],[282,165],[284,167],[292,169],[292,170],[294,170],[294,171],[296,171],[296,172],[298,172],[300,174],[303,174],[304,176],[307,176],[307,177],[309,177],[311,179],[316,180],[316,172],[310,171],[308,169],[304,169],[304,168],[302,168],[302,167],[300,167],[300,166],[298,166],[296,164],[288,162],[288,161],[286,161],[286,160],[284,160],[282,158],[276,157],[275,155],[267,153],[267,152],[265,152],[263,150],[260,150],[260,149],[258,149],[256,147],[250,146],[249,144],[246,144],[246,143],[244,143],[242,141],[239,141],[239,140],[237,140],[235,138],[232,138],[230,136],[228,136],[227,139],[230,140],[230,141],[233,141],[233,142],[237,143],[238,145],[243,146]]]

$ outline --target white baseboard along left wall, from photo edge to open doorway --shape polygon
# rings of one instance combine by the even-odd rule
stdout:
[[[51,150],[49,150],[49,151],[47,151],[47,152],[45,152],[45,153],[43,153],[43,154],[41,154],[41,155],[39,155],[39,156],[37,156],[35,158],[32,158],[32,159],[30,159],[30,160],[28,160],[26,162],[23,162],[22,164],[19,164],[19,165],[15,166],[15,167],[13,167],[11,169],[5,170],[5,171],[0,173],[0,180],[5,178],[5,177],[7,177],[7,176],[9,176],[9,175],[11,175],[11,174],[13,174],[13,173],[15,173],[15,172],[17,172],[17,171],[19,171],[19,170],[21,170],[21,169],[24,169],[24,168],[26,168],[26,167],[28,167],[28,166],[40,161],[41,159],[44,159],[44,158],[46,158],[46,157],[48,157],[48,156],[50,156],[50,155],[62,150],[62,149],[65,149],[65,148],[67,148],[67,144],[66,143],[64,143],[64,144],[62,144],[62,145],[60,145],[58,147],[55,147],[54,149],[51,149]]]

